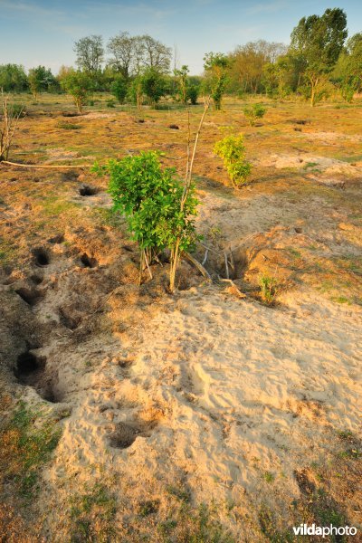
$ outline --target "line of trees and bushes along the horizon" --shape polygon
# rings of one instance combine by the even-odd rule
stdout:
[[[62,66],[54,76],[44,66],[25,73],[18,64],[0,65],[5,92],[71,93],[77,107],[94,91],[111,91],[119,103],[155,106],[164,96],[196,103],[211,94],[220,109],[225,93],[263,93],[276,100],[298,94],[315,105],[338,90],[353,100],[362,88],[362,33],[348,39],[347,15],[340,8],[300,19],[290,45],[264,40],[238,46],[233,52],[207,52],[202,76],[188,66],[171,69],[172,50],[149,36],[122,32],[104,44],[100,35],[74,43],[76,68]]]

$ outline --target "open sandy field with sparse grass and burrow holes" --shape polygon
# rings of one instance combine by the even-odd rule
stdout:
[[[69,117],[63,95],[19,96],[9,159],[155,149],[183,176],[186,110],[109,98]],[[183,262],[174,296],[167,258],[138,286],[106,178],[0,165],[0,540],[282,543],[301,522],[362,538],[362,102],[258,101],[254,127],[243,100],[207,113],[195,258],[210,247],[214,281]],[[227,126],[252,162],[240,190],[213,152]]]

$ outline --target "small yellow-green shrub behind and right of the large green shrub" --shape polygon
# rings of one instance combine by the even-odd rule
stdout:
[[[229,135],[217,141],[214,145],[214,153],[224,159],[224,167],[233,186],[243,185],[252,170],[250,162],[245,160],[243,134]]]

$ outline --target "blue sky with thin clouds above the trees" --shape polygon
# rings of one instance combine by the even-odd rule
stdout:
[[[346,11],[349,35],[362,32],[361,0],[0,0],[0,64],[43,64],[56,73],[74,64],[75,40],[96,33],[107,43],[127,30],[176,46],[178,63],[196,74],[205,52],[230,52],[258,39],[288,43],[302,16],[328,7]]]

